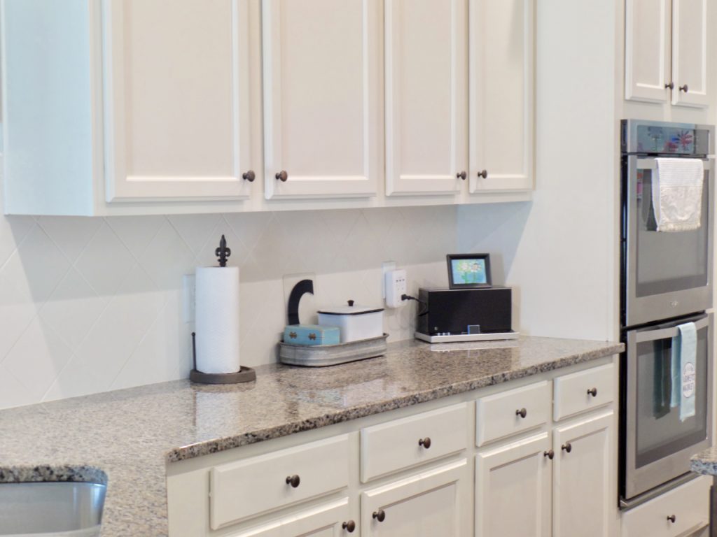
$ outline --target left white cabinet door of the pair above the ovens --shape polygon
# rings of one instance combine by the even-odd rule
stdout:
[[[625,2],[625,99],[668,102],[670,1]]]

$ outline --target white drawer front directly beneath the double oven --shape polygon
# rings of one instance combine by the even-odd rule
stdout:
[[[622,537],[678,537],[710,521],[711,478],[703,475],[622,515]],[[668,517],[675,516],[675,522]]]

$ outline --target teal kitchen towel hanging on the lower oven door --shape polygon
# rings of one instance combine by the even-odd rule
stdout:
[[[695,358],[697,328],[694,323],[680,324],[673,338],[673,389],[670,407],[680,406],[680,421],[695,415]]]

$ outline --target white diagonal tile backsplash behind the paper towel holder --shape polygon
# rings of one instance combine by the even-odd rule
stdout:
[[[0,408],[185,378],[181,282],[224,233],[241,273],[241,361],[276,360],[286,274],[315,274],[317,308],[381,304],[381,261],[410,291],[445,285],[453,206],[108,218],[0,216]],[[387,310],[392,341],[415,304]],[[315,321],[302,319],[302,321]]]

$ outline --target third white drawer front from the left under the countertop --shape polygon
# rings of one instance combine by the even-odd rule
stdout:
[[[476,405],[475,435],[480,446],[547,422],[550,417],[550,387],[547,381],[536,382],[516,390],[481,397]]]

